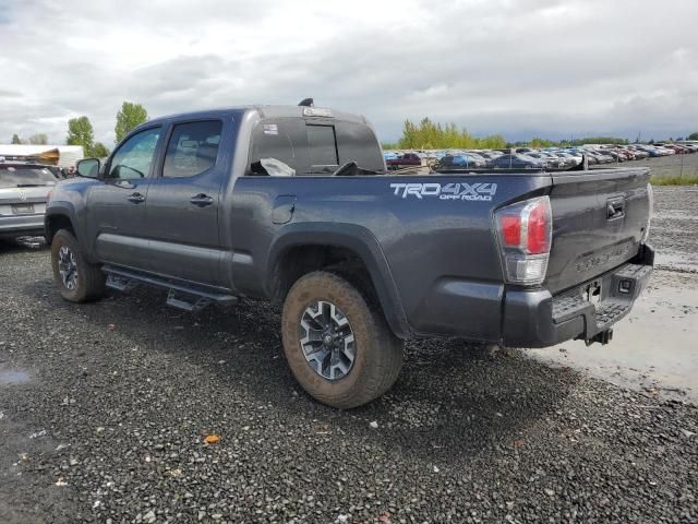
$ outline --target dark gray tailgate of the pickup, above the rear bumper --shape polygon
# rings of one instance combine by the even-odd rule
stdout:
[[[553,245],[543,284],[552,294],[589,281],[638,252],[648,227],[648,168],[553,174]]]

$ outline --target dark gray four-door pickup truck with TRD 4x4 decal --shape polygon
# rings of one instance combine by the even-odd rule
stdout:
[[[336,407],[387,391],[409,337],[606,343],[652,271],[646,168],[390,175],[363,117],[309,105],[159,118],[77,170],[45,223],[65,299],[276,300]]]

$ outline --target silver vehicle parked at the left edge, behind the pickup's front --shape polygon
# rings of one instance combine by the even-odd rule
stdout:
[[[0,159],[0,238],[44,236],[46,201],[57,181],[40,164]]]

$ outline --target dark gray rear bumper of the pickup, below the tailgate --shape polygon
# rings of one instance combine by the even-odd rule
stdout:
[[[504,297],[502,342],[509,347],[547,347],[571,338],[591,340],[630,312],[649,282],[654,251],[642,246],[630,263],[561,295],[507,290]],[[599,290],[592,303],[583,298]]]

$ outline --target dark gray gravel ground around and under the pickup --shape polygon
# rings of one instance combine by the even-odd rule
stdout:
[[[0,247],[2,523],[698,522],[690,404],[428,341],[384,398],[334,410],[266,303],[69,305],[48,261]]]

